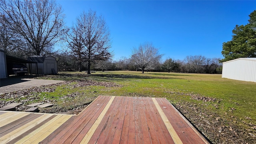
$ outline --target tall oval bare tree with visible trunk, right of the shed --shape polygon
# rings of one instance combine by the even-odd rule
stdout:
[[[106,25],[106,22],[102,16],[97,16],[96,12],[89,10],[88,13],[83,12],[80,17],[76,19],[76,30],[79,31],[79,41],[74,42],[75,39],[70,39],[73,44],[70,43],[70,47],[75,44],[79,46],[73,46],[80,48],[79,50],[73,49],[73,52],[78,52],[85,62],[88,63],[88,74],[90,73],[91,62],[95,60],[108,60],[112,54],[109,52],[110,44],[110,32]],[[74,31],[74,32],[78,32]],[[75,35],[74,35],[75,36]],[[77,39],[78,40],[78,39]]]

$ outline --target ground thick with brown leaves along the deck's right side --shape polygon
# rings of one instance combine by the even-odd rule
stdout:
[[[252,123],[246,123],[251,129],[244,129],[237,124],[238,118],[232,117],[231,120],[221,118],[214,111],[204,108],[204,104],[180,101],[175,107],[188,120],[196,126],[214,144],[254,144],[256,142],[255,129]],[[250,117],[246,119],[250,120]]]

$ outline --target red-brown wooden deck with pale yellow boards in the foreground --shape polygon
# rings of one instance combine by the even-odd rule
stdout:
[[[80,114],[0,111],[0,144],[208,144],[166,98],[99,96]]]

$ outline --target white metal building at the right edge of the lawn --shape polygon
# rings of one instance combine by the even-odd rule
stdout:
[[[256,58],[238,58],[223,62],[222,78],[256,82]]]

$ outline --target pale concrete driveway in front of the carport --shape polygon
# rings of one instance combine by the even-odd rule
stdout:
[[[30,78],[4,78],[0,80],[0,95],[14,92],[18,90],[24,90],[36,86],[44,86],[48,84],[56,84],[64,82],[62,80],[38,80]]]

